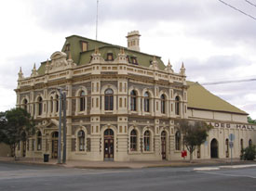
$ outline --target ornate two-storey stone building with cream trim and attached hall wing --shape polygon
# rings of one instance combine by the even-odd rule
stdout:
[[[58,156],[59,92],[67,94],[67,159],[182,159],[177,119],[211,122],[208,141],[194,159],[235,157],[256,142],[247,113],[186,81],[185,68],[174,72],[160,57],[140,52],[139,32],[128,32],[128,47],[73,35],[61,51],[24,78],[19,72],[17,107],[26,108],[37,132],[20,143],[25,157]]]

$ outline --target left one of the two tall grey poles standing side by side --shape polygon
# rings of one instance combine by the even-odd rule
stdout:
[[[59,137],[58,137],[58,164],[61,164],[61,110],[62,110],[62,90],[58,89],[60,93],[59,99]]]

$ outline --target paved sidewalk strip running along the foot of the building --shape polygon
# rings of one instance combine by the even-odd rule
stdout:
[[[18,158],[14,161],[13,158],[0,157],[0,161],[39,164],[39,165],[56,165],[66,168],[82,168],[82,169],[141,169],[154,167],[206,167],[206,166],[230,166],[230,159],[195,159],[193,162],[189,160],[159,160],[159,161],[86,161],[86,160],[68,160],[66,164],[58,164],[57,159],[49,159],[44,162],[43,159]],[[241,161],[233,159],[233,165],[248,165],[256,164],[256,161]]]

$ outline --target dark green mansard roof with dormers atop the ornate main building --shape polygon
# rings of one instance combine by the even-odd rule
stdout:
[[[88,43],[88,51],[82,52],[82,42]],[[65,51],[66,45],[70,45],[70,52]],[[74,63],[79,65],[88,64],[92,53],[95,51],[95,48],[98,48],[101,57],[104,59],[107,58],[107,53],[113,53],[114,59],[118,56],[120,48],[125,49],[126,55],[128,57],[136,57],[138,65],[143,67],[149,67],[151,61],[153,60],[153,55],[148,55],[138,51],[129,50],[126,47],[119,45],[111,45],[101,41],[95,41],[88,39],[82,36],[72,35],[66,37],[66,41],[61,49],[62,52],[65,52],[67,55],[71,54]],[[158,68],[160,70],[165,69],[165,64],[161,60],[161,57],[155,57],[158,62]],[[42,62],[40,68],[37,70],[40,75],[45,73],[46,62]]]

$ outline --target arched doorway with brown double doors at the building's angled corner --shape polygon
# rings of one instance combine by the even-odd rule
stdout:
[[[107,129],[104,132],[104,159],[114,159],[114,132]]]

